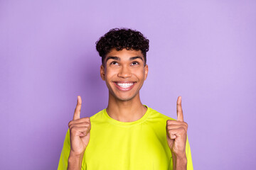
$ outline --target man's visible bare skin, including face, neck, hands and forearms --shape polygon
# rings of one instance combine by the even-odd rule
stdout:
[[[109,89],[107,114],[115,120],[133,122],[142,118],[146,107],[139,97],[148,74],[148,65],[139,50],[111,50],[105,64],[100,67],[100,76]],[[81,169],[82,157],[90,140],[90,118],[80,118],[82,99],[78,96],[70,129],[70,157],[68,169]],[[183,121],[181,97],[177,100],[177,120],[167,120],[166,139],[171,149],[174,169],[186,169],[186,135],[188,125]]]

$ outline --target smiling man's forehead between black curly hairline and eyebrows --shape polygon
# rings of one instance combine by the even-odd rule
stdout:
[[[112,49],[109,53],[106,55],[107,57],[119,57],[120,60],[129,60],[130,57],[137,57],[140,56],[143,58],[142,51],[141,50],[119,50],[117,51],[116,49]]]

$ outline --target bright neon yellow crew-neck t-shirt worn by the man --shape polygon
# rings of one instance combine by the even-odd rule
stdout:
[[[82,160],[83,170],[167,170],[173,169],[166,140],[166,120],[174,120],[152,108],[130,123],[107,115],[106,109],[90,118],[90,142]],[[67,169],[70,154],[69,130],[65,136],[58,169]],[[186,141],[187,169],[193,169]]]

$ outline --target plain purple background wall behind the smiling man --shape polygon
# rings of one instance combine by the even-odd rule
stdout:
[[[95,41],[150,40],[142,102],[176,118],[183,97],[195,169],[256,166],[256,1],[0,1],[1,169],[57,169],[76,98],[107,106]]]

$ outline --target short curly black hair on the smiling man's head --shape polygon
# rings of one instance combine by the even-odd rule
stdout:
[[[96,42],[96,49],[100,57],[102,57],[103,65],[107,53],[113,48],[117,51],[124,48],[127,50],[141,50],[145,61],[144,64],[146,64],[146,52],[149,51],[149,40],[137,30],[127,28],[111,29]]]

